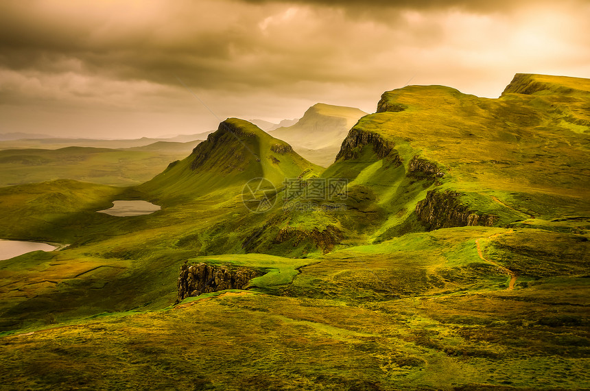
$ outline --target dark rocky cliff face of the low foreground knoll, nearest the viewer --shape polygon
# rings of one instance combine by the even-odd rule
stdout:
[[[182,265],[178,276],[178,299],[209,292],[218,292],[224,289],[244,289],[251,279],[261,276],[260,270],[250,268],[231,268],[226,265],[208,265],[198,263],[196,265]]]

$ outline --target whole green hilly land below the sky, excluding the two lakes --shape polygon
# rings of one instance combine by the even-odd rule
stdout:
[[[178,157],[122,182],[121,149],[49,181],[23,156],[71,151],[0,151],[0,237],[69,245],[0,261],[0,389],[590,389],[590,80],[303,119],[144,145],[126,172]]]

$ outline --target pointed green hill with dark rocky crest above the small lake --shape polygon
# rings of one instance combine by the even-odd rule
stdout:
[[[219,129],[187,158],[171,163],[139,189],[165,202],[175,198],[186,200],[215,191],[241,191],[246,182],[255,178],[281,185],[285,178],[296,178],[311,169],[321,171],[321,167],[296,154],[285,141],[271,137],[248,121],[230,118],[220,123]]]

